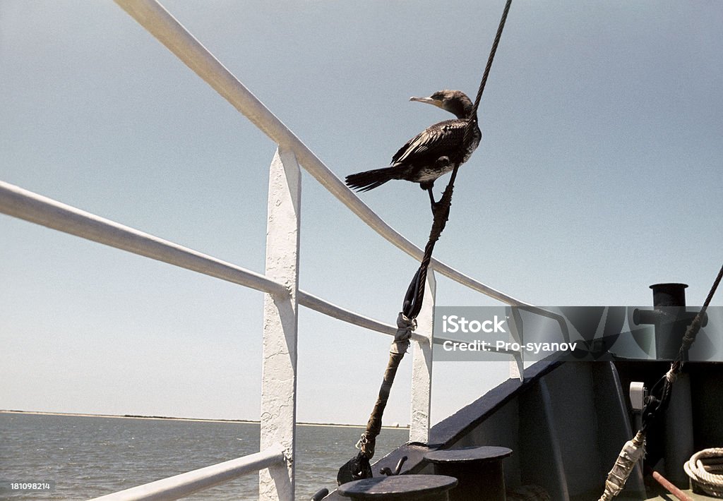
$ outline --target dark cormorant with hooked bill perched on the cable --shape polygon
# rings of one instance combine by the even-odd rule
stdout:
[[[405,179],[419,183],[429,192],[432,208],[435,196],[432,186],[438,177],[465,163],[479,145],[482,132],[472,101],[459,90],[440,90],[429,98],[409,98],[411,101],[438,106],[457,116],[455,120],[440,121],[408,140],[392,157],[389,167],[346,176],[346,184],[360,192],[385,184],[390,179]],[[466,132],[469,126],[471,130]]]

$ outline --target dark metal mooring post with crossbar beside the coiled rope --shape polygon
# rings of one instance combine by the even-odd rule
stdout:
[[[653,289],[652,310],[633,310],[636,325],[654,325],[656,359],[672,361],[680,351],[683,335],[696,312],[685,311],[685,283],[656,283]],[[707,317],[701,325],[705,326]],[[649,440],[655,440],[649,437]],[[664,440],[664,471],[677,487],[688,487],[688,476],[683,463],[693,455],[693,411],[690,397],[690,374],[680,372],[672,386],[670,404],[664,414],[662,437]]]

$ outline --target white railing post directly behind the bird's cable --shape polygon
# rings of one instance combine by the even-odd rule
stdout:
[[[411,418],[409,420],[409,441],[429,442],[429,413],[432,408],[432,346],[434,346],[435,296],[437,281],[435,272],[427,271],[427,286],[424,288],[424,302],[416,317],[417,333],[411,341]]]

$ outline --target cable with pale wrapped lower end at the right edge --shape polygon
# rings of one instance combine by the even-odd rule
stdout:
[[[660,378],[658,382],[652,387],[649,397],[646,398],[646,405],[643,408],[643,424],[641,429],[638,431],[636,436],[625,443],[623,450],[620,451],[620,455],[617,456],[615,465],[610,470],[607,481],[605,481],[605,490],[600,497],[599,501],[612,500],[617,494],[622,492],[625,487],[625,482],[628,481],[630,473],[633,471],[633,467],[636,465],[638,460],[644,454],[644,443],[645,435],[648,427],[665,412],[670,403],[670,395],[672,394],[672,385],[675,382],[677,374],[683,369],[683,362],[688,356],[688,349],[696,341],[696,335],[701,330],[701,322],[703,316],[706,314],[706,309],[711,303],[716,289],[723,278],[723,266],[721,267],[716,279],[713,281],[713,286],[703,302],[701,311],[696,314],[693,321],[688,325],[688,329],[685,330],[683,336],[683,343],[680,345],[680,351],[675,360],[670,364],[670,369]]]

